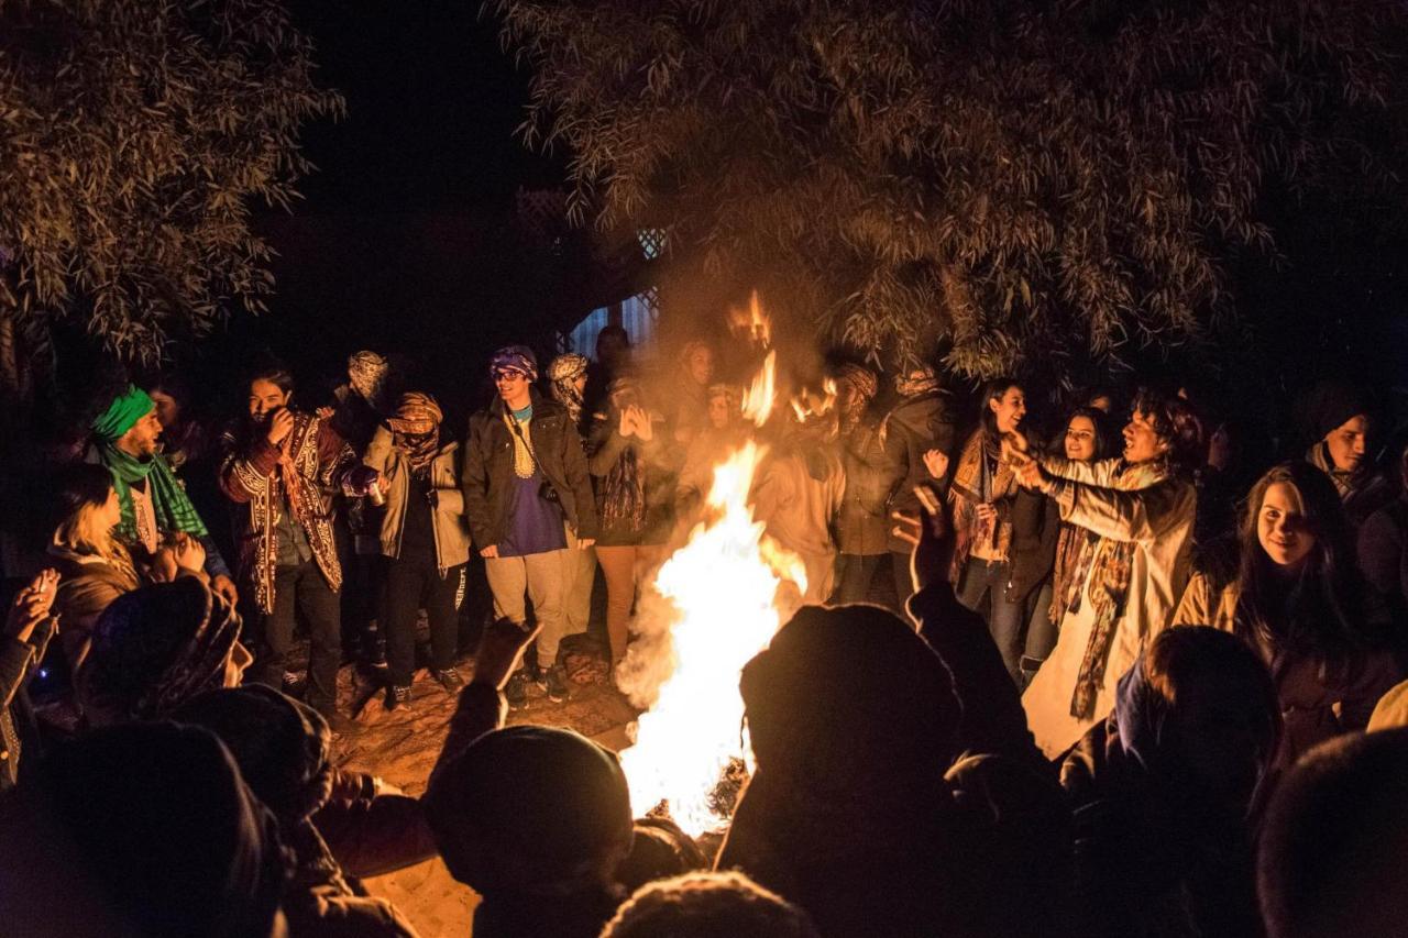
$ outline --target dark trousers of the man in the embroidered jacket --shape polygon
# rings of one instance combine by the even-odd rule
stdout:
[[[283,687],[283,672],[293,648],[297,611],[308,625],[308,706],[331,711],[338,701],[338,668],[342,665],[342,608],[317,562],[280,566],[273,577],[273,613],[263,615],[263,637],[255,680]]]

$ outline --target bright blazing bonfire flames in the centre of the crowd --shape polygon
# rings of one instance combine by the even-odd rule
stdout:
[[[753,406],[745,410],[758,425],[772,413],[774,366],[770,354],[749,389]],[[762,458],[749,441],[714,468],[705,521],[655,577],[672,610],[669,641],[656,652],[667,655],[669,676],[636,723],[635,745],[621,752],[635,810],[667,801],[670,817],[691,835],[727,820],[729,806],[714,804],[711,794],[728,766],[742,759],[750,768],[738,677],[781,627],[779,589],[788,580],[807,589],[800,558],[763,537],[748,504]],[[622,684],[632,690],[629,679]]]

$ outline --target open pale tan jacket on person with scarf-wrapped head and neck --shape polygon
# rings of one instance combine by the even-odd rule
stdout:
[[[411,465],[403,449],[391,445],[393,434],[379,427],[366,448],[363,465],[382,475],[386,506],[382,514],[382,554],[401,556],[401,532],[406,531],[407,511],[425,511],[429,506],[408,504]],[[435,531],[435,565],[441,576],[452,566],[469,561],[469,523],[465,520],[465,493],[459,487],[459,444],[441,446],[431,461],[429,487],[435,493],[431,528]]]

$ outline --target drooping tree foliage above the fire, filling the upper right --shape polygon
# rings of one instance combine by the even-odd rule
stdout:
[[[1233,321],[1269,200],[1397,199],[1398,0],[489,0],[573,210],[883,361]]]

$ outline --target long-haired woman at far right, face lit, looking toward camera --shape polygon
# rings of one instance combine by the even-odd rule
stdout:
[[[1262,655],[1286,718],[1284,768],[1367,725],[1401,670],[1360,603],[1349,521],[1324,472],[1287,462],[1263,475],[1246,500],[1239,551],[1236,577],[1195,575],[1173,621],[1231,631]]]

